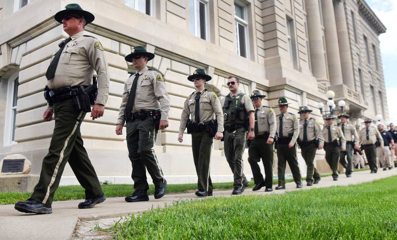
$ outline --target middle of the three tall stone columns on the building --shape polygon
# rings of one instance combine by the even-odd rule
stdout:
[[[342,68],[340,66],[338,37],[336,32],[335,14],[332,0],[321,0],[326,37],[328,73],[331,86],[343,84]]]

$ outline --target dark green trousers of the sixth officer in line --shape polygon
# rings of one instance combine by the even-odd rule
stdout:
[[[277,144],[277,158],[278,186],[285,186],[285,167],[287,162],[291,169],[294,182],[296,184],[302,184],[295,145],[289,148],[288,144]]]

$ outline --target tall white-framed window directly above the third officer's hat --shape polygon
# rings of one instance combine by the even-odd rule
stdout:
[[[208,1],[190,0],[190,32],[203,40],[208,39]]]

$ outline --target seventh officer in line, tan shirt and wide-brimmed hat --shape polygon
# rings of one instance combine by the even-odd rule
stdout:
[[[314,158],[316,157],[317,149],[323,149],[324,147],[324,138],[320,124],[316,119],[309,117],[312,111],[307,106],[302,106],[298,112],[302,114],[302,119],[299,120],[300,131],[298,144],[307,166],[307,186],[318,184],[321,180],[319,172],[314,167]]]

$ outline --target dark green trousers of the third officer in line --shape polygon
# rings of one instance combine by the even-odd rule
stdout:
[[[211,160],[212,137],[208,131],[192,133],[193,160],[195,162],[197,187],[199,190],[212,192],[212,181],[209,176],[209,165]]]

